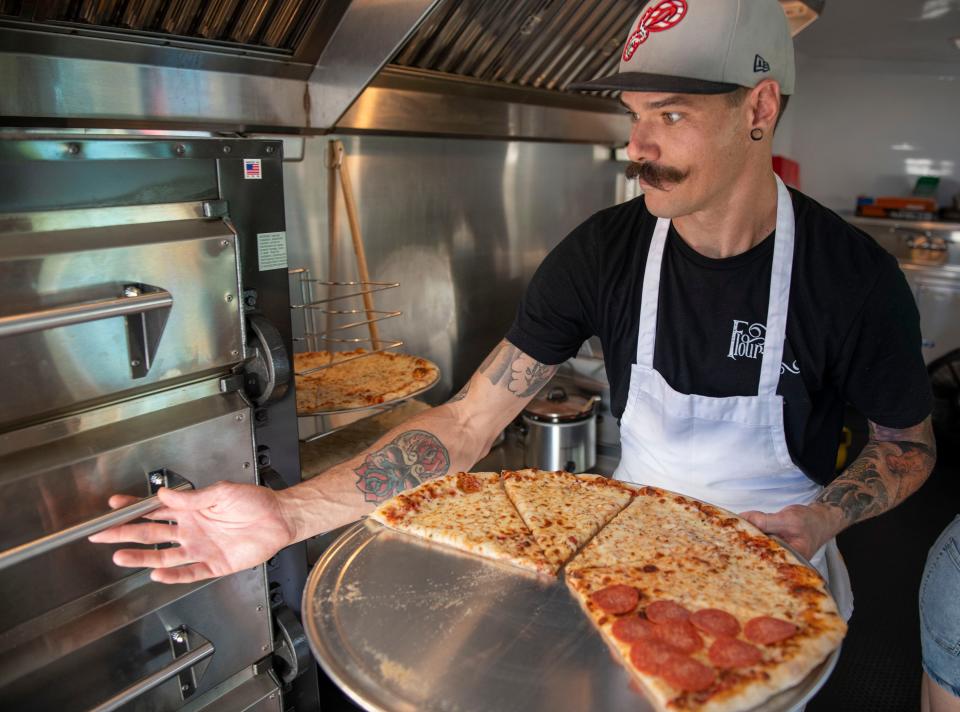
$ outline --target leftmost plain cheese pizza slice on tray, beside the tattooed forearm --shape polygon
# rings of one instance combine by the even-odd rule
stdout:
[[[524,569],[555,574],[497,472],[459,472],[384,502],[370,518],[397,531]]]

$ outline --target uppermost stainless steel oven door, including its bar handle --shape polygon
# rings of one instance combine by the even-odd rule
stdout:
[[[0,284],[0,363],[17,374],[0,431],[244,358],[236,235],[222,220],[8,233]]]

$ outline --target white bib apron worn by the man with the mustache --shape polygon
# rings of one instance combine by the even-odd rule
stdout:
[[[777,395],[786,340],[793,268],[794,215],[790,193],[777,178],[777,230],[767,311],[766,340],[755,396],[687,395],[673,390],[653,368],[663,248],[670,221],[657,222],[643,278],[637,363],[620,423],[619,480],[680,492],[732,512],[778,512],[809,504],[822,489],[790,459]],[[812,563],[830,583],[840,613],[853,612],[853,592],[836,541]]]

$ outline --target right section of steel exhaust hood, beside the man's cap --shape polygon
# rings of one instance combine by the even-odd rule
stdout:
[[[709,0],[703,0],[709,1]],[[780,0],[793,34],[824,0]],[[343,116],[351,131],[622,144],[610,92],[567,87],[616,71],[646,0],[441,0]]]

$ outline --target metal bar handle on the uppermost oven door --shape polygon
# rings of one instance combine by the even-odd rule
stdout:
[[[119,297],[62,304],[49,309],[0,316],[0,338],[61,326],[126,317],[131,375],[143,378],[153,365],[160,337],[173,307],[173,295],[149,284],[125,284]]]

